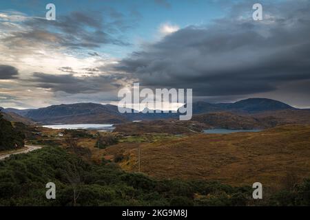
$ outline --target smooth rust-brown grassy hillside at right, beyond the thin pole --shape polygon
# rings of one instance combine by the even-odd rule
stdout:
[[[116,144],[124,170],[158,178],[218,180],[234,186],[260,181],[282,188],[310,176],[310,126],[278,126],[258,133],[197,134],[152,143]]]

